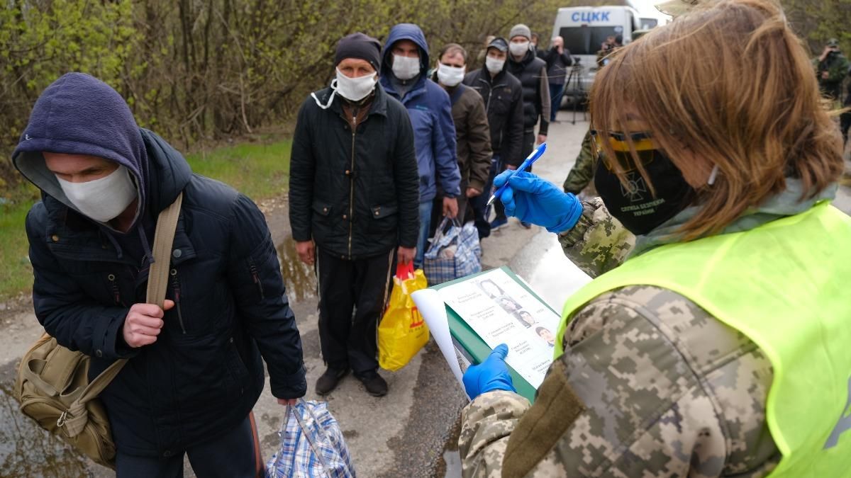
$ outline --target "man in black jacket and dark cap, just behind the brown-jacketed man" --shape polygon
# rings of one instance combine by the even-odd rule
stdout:
[[[488,181],[480,196],[471,198],[479,238],[490,236],[488,221],[488,197],[494,176],[503,169],[503,164],[514,168],[523,162],[520,146],[523,140],[523,86],[516,77],[505,71],[508,57],[508,42],[494,37],[488,42],[485,66],[467,73],[464,84],[475,89],[483,98],[490,126],[490,145],[494,151]]]

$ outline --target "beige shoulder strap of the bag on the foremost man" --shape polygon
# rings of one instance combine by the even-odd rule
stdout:
[[[154,233],[154,248],[152,251],[153,261],[151,269],[148,271],[148,288],[147,288],[147,303],[158,304],[163,307],[165,303],[165,292],[168,285],[168,265],[171,257],[171,247],[174,243],[174,230],[177,228],[177,219],[180,216],[180,204],[183,202],[183,193],[181,192],[177,199],[172,202],[168,208],[165,208],[159,214],[157,219],[157,231]],[[74,436],[72,433],[75,428],[73,423],[75,420],[81,421],[80,430],[86,424],[86,413],[83,413],[86,407],[86,402],[93,399],[100,392],[106,389],[106,385],[110,384],[113,378],[121,372],[121,368],[127,363],[127,359],[120,359],[112,363],[106,370],[100,373],[92,380],[89,385],[83,390],[80,397],[69,407],[69,417],[66,420],[68,435]]]

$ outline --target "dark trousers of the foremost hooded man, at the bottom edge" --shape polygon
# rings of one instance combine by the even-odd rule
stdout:
[[[117,478],[180,478],[183,452],[168,458],[134,457],[119,449],[115,458]],[[254,478],[266,469],[260,457],[260,440],[254,414],[237,428],[211,441],[186,449],[192,471],[198,478]]]

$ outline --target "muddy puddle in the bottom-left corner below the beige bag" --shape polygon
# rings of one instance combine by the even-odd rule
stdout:
[[[85,460],[18,410],[7,384],[0,384],[0,476],[90,476]]]

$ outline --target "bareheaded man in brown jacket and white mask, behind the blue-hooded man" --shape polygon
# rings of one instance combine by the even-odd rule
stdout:
[[[452,120],[455,123],[455,140],[458,151],[458,168],[461,174],[461,196],[458,197],[458,220],[461,224],[473,220],[467,213],[468,199],[481,196],[488,182],[490,159],[490,131],[488,114],[484,108],[482,95],[465,86],[467,50],[458,43],[448,43],[441,48],[437,60],[437,70],[431,79],[449,94],[452,101]],[[440,188],[437,190],[435,204],[431,209],[431,230],[437,226],[443,201]]]

